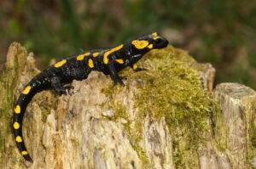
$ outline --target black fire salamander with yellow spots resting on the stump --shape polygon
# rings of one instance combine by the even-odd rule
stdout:
[[[71,83],[73,80],[82,81],[86,79],[91,70],[102,71],[105,75],[110,75],[114,84],[120,83],[125,86],[122,80],[126,77],[119,76],[119,70],[127,66],[135,71],[145,70],[137,66],[137,61],[153,49],[166,48],[167,44],[166,38],[160,37],[154,32],[114,48],[89,50],[62,59],[32,78],[20,93],[20,97],[15,104],[13,119],[15,142],[26,161],[32,161],[32,158],[28,155],[22,137],[22,121],[26,106],[36,93],[53,88],[60,95],[67,94],[66,89],[72,89],[73,86],[63,85]]]

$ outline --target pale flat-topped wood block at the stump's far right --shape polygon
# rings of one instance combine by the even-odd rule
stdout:
[[[253,164],[255,167],[255,91],[241,84],[221,83],[213,98],[222,108],[220,118],[215,121],[218,147],[228,156],[231,168],[251,168]]]

